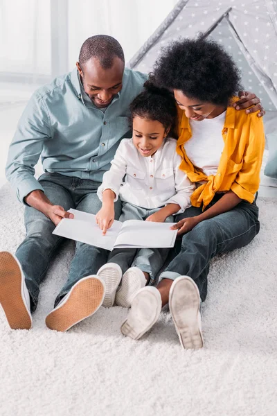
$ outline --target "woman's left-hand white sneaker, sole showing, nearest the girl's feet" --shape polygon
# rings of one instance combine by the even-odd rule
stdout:
[[[146,286],[136,293],[121,332],[138,340],[157,322],[161,313],[161,295],[157,288]]]

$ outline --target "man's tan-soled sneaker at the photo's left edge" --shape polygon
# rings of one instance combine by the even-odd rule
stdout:
[[[11,329],[30,329],[30,295],[19,261],[0,252],[0,304]]]

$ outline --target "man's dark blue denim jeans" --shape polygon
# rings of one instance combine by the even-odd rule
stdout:
[[[59,173],[44,173],[39,177],[45,195],[54,205],[96,214],[102,204],[96,194],[99,182],[82,180]],[[120,215],[121,202],[116,202],[116,219]],[[52,254],[64,241],[52,234],[55,225],[42,212],[32,207],[25,209],[26,238],[15,253],[21,263],[30,293],[31,309],[35,311],[39,296],[39,284],[43,281]],[[55,306],[71,287],[82,277],[94,275],[106,263],[109,251],[92,245],[76,242],[75,255],[71,261],[69,277],[55,300]]]

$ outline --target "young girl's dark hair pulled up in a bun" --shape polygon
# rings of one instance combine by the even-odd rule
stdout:
[[[130,104],[131,123],[135,116],[157,120],[166,130],[170,128],[170,135],[174,135],[177,107],[172,92],[166,88],[157,87],[151,75],[143,87],[143,92],[136,96]]]

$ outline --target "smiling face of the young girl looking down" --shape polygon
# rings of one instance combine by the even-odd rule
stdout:
[[[163,125],[157,120],[141,119],[134,116],[133,119],[133,143],[142,156],[154,155],[163,144],[168,135]]]

